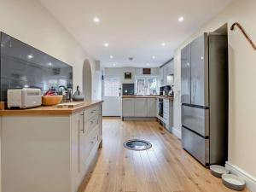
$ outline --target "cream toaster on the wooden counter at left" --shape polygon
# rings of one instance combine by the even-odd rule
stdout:
[[[42,104],[40,89],[22,88],[7,90],[8,108],[34,108]]]

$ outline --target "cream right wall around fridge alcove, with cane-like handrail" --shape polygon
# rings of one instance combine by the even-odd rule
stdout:
[[[213,32],[228,23],[229,26],[229,78],[230,78],[230,114],[229,114],[229,161],[241,170],[256,177],[256,51],[252,49],[241,32],[230,31],[233,22],[238,21],[256,43],[255,0],[234,0],[219,15],[201,27],[189,37],[176,51],[175,77],[180,77],[180,49],[202,34]],[[180,80],[176,80],[176,89],[180,90]],[[180,102],[175,107],[180,112]],[[180,113],[175,115],[174,123],[180,129]]]

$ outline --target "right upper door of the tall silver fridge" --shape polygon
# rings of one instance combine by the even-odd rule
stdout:
[[[191,43],[191,104],[208,106],[207,33]]]

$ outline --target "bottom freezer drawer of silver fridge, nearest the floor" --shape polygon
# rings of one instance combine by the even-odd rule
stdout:
[[[209,139],[200,137],[186,128],[182,128],[182,143],[183,148],[192,154],[196,160],[199,160],[203,165],[209,164]]]

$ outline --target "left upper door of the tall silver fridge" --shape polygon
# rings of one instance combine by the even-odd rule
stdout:
[[[181,102],[190,104],[190,44],[181,51]]]

